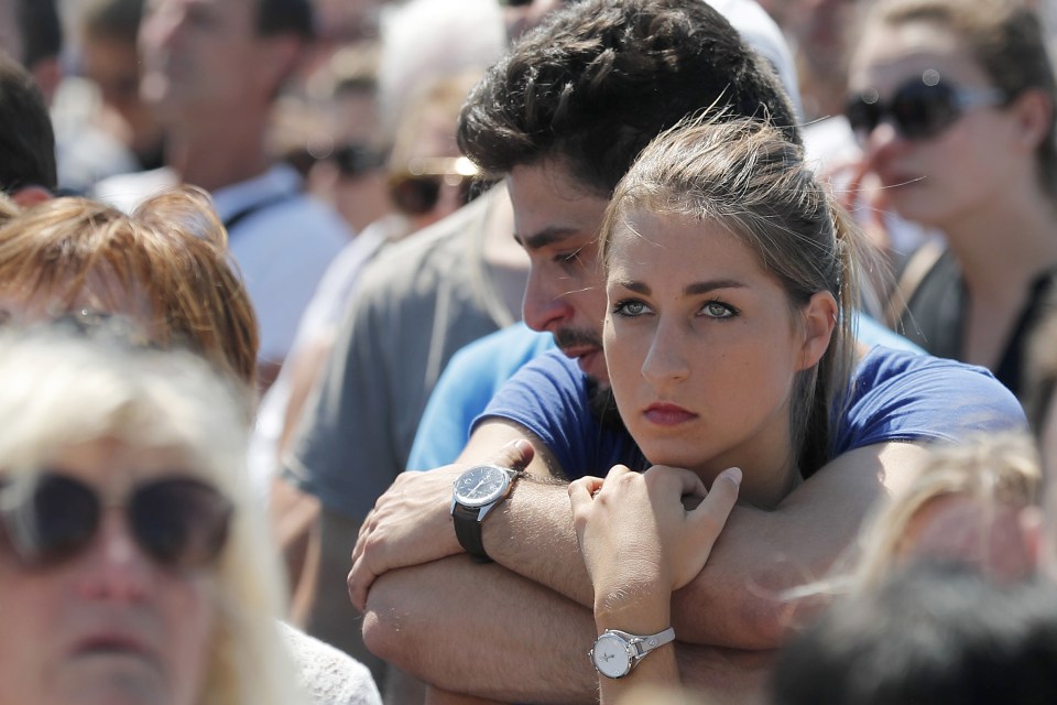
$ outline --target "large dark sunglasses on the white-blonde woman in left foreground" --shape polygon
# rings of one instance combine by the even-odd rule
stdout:
[[[8,479],[0,487],[6,542],[30,566],[53,565],[84,551],[105,507],[94,488],[55,471]],[[185,476],[138,485],[123,508],[140,547],[160,565],[181,570],[216,561],[233,511],[216,488]]]

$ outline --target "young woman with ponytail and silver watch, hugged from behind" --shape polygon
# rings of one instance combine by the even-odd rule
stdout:
[[[617,187],[600,245],[606,361],[653,467],[569,487],[603,699],[676,682],[672,593],[737,498],[773,508],[828,457],[854,361],[859,237],[799,150],[758,121],[663,134]]]

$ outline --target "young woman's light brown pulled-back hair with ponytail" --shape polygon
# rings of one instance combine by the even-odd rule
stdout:
[[[651,142],[613,192],[600,232],[608,262],[618,228],[636,209],[716,224],[755,252],[795,313],[820,291],[837,301],[826,354],[798,373],[789,424],[804,477],[829,457],[830,421],[854,365],[851,326],[869,256],[844,210],[804,164],[803,150],[769,123],[705,113]]]

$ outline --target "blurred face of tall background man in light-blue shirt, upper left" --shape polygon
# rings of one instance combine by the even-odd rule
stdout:
[[[259,104],[254,0],[149,0],[140,28],[144,99],[161,112],[244,110]],[[265,101],[266,104],[266,101]]]

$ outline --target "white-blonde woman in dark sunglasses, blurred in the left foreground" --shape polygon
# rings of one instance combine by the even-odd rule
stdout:
[[[0,387],[0,702],[304,702],[230,380],[8,332]]]

